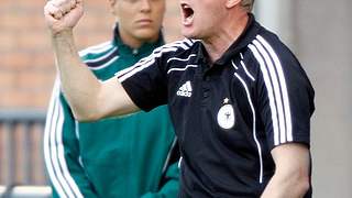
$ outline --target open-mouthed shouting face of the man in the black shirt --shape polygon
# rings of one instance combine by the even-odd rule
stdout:
[[[226,13],[224,0],[180,0],[182,33],[186,37],[206,38]]]

